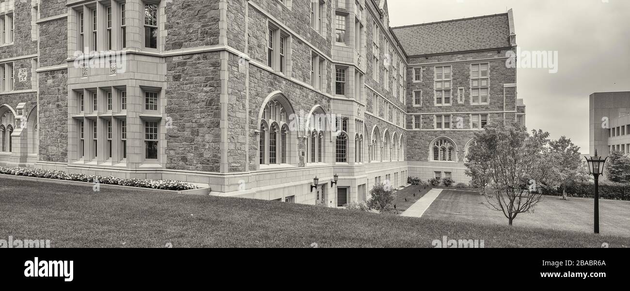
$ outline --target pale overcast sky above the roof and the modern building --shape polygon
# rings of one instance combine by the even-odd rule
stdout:
[[[588,95],[630,91],[630,0],[388,0],[391,26],[505,13],[522,50],[558,51],[558,72],[517,71],[527,128],[588,152]]]

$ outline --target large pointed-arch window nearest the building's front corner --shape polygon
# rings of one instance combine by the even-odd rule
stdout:
[[[287,125],[288,103],[278,95],[263,106],[258,136],[260,164],[290,163],[290,131]]]

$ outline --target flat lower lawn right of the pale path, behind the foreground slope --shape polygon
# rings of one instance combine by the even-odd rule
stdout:
[[[476,192],[443,190],[423,218],[508,224],[503,212],[490,210],[481,202],[486,202],[486,199]],[[590,233],[593,231],[593,200],[562,200],[561,197],[543,196],[533,214],[518,214],[513,223],[517,226]],[[630,241],[630,202],[600,200],[599,231],[600,234],[626,236],[629,237],[627,241]]]

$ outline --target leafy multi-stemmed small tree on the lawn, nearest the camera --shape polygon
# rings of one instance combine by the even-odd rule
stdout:
[[[548,182],[550,161],[546,145],[548,132],[527,129],[518,123],[501,121],[486,125],[475,134],[467,155],[466,174],[486,183],[486,207],[503,212],[512,225],[520,213],[533,212],[542,200],[537,185]]]

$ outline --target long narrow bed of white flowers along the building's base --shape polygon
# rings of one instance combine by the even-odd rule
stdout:
[[[175,180],[149,180],[149,179],[120,179],[113,176],[99,176],[99,175],[86,175],[86,174],[74,174],[66,173],[64,171],[55,171],[47,169],[34,169],[34,168],[5,168],[0,167],[0,174],[9,174],[14,176],[26,176],[35,178],[47,178],[55,180],[67,180],[67,181],[80,181],[88,183],[108,184],[108,185],[120,185],[120,186],[132,186],[140,188],[152,188],[158,190],[192,190],[198,189],[197,185],[192,183],[186,183]]]

